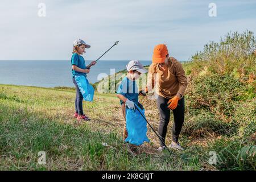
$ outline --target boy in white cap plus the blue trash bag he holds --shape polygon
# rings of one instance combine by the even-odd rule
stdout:
[[[126,65],[127,75],[121,81],[117,90],[117,97],[120,100],[125,126],[123,128],[123,140],[133,145],[141,145],[149,142],[147,138],[147,123],[143,119],[143,106],[139,103],[139,92],[136,80],[142,73],[147,73],[147,69],[137,61],[132,60]],[[139,111],[141,113],[139,113]]]

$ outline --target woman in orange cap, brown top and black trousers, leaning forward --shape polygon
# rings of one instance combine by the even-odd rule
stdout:
[[[170,147],[183,150],[178,139],[184,122],[184,93],[187,88],[187,77],[181,63],[169,56],[168,49],[164,44],[155,46],[152,64],[148,68],[145,91],[148,92],[154,88],[160,117],[158,133],[162,137],[158,150],[162,151],[165,148],[163,142],[165,142],[167,126],[170,121],[170,110],[174,115]]]

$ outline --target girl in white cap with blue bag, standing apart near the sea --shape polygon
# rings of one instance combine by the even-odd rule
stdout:
[[[75,99],[75,114],[74,118],[77,121],[89,121],[90,118],[84,114],[82,109],[82,100],[92,101],[94,89],[92,85],[89,84],[86,74],[90,72],[90,66],[95,65],[96,61],[92,61],[88,66],[85,65],[84,57],[81,55],[85,53],[85,48],[90,48],[84,40],[77,39],[73,43],[73,55],[71,57],[72,64],[72,75],[73,83],[76,86],[76,99]]]

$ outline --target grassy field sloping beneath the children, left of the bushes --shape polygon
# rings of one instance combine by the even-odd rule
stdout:
[[[123,119],[115,95],[96,93],[94,102],[84,102],[92,121],[81,125],[72,118],[74,98],[69,89],[0,85],[0,169],[191,168],[177,158],[179,152],[159,158],[167,154],[156,154],[152,142],[141,147],[140,155],[130,155],[121,139]],[[39,151],[46,151],[46,165],[38,164]]]

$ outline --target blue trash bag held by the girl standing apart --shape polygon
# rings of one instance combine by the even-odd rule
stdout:
[[[75,76],[75,80],[79,86],[80,92],[82,93],[82,97],[84,97],[84,100],[92,102],[94,96],[94,88],[89,84],[87,78],[85,76]]]

